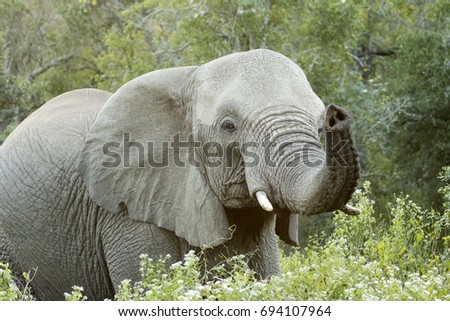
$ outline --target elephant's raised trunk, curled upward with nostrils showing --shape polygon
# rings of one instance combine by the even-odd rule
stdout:
[[[285,159],[281,170],[278,168],[276,175],[268,180],[269,197],[296,214],[311,215],[333,210],[359,214],[358,209],[347,205],[359,178],[358,154],[350,134],[349,114],[330,105],[324,128],[325,153],[317,148],[303,147],[302,164],[288,166],[293,160]],[[257,197],[267,210],[270,207],[265,198],[265,193]]]

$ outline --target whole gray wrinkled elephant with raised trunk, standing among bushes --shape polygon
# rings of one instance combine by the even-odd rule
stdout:
[[[121,280],[139,279],[141,253],[175,262],[203,247],[210,265],[243,253],[261,277],[276,274],[277,234],[296,243],[296,214],[355,214],[346,207],[358,178],[349,124],[343,109],[325,109],[297,65],[268,50],[155,71],[114,94],[68,92],[28,117],[0,149],[0,258],[17,271],[37,269],[32,285],[43,300],[63,299],[72,285],[90,299],[112,298]],[[326,166],[321,129],[333,133],[331,147],[348,141],[339,151],[345,166]],[[155,142],[155,161],[161,142],[177,133],[224,146],[269,135],[278,147],[227,151],[233,166],[215,168],[205,166],[202,148],[194,154],[200,167],[174,165],[171,152],[170,165],[159,168],[132,146],[124,166],[123,143],[104,150],[124,133],[145,146]],[[305,147],[308,159],[298,161]],[[111,152],[119,166],[105,166]],[[327,152],[333,158],[337,148]],[[271,155],[274,164],[251,164],[251,155]],[[181,161],[190,156],[180,149]],[[257,191],[273,211],[258,205]]]

